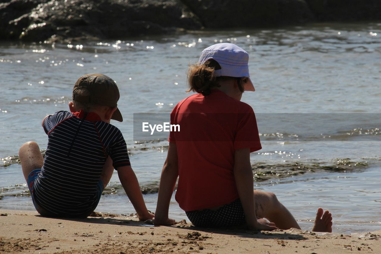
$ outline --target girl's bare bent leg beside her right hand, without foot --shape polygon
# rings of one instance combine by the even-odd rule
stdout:
[[[290,211],[278,201],[274,193],[255,190],[254,199],[257,217],[266,218],[270,222],[274,222],[280,229],[300,229]]]

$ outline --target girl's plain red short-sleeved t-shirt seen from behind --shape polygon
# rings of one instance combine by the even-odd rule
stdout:
[[[179,182],[176,201],[184,211],[229,204],[239,198],[234,180],[234,152],[260,150],[258,127],[250,105],[224,92],[195,94],[171,113],[168,141],[176,143]]]

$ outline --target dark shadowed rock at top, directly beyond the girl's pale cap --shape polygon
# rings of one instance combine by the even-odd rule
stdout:
[[[311,21],[304,0],[182,0],[205,27],[263,27]]]

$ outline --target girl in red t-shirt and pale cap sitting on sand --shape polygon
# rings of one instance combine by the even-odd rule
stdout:
[[[203,50],[189,68],[188,92],[196,94],[171,113],[171,124],[181,131],[168,138],[155,225],[175,223],[168,209],[179,177],[176,201],[197,227],[300,228],[273,193],[253,191],[250,153],[262,147],[254,111],[240,101],[244,91],[255,91],[248,59],[242,48],[219,43]],[[330,232],[331,220],[319,208],[313,230]]]

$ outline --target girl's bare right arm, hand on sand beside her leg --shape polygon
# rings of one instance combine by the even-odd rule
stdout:
[[[275,230],[274,223],[270,224],[255,215],[253,170],[250,165],[250,148],[235,150],[234,178],[238,195],[242,203],[247,225],[250,229]]]

